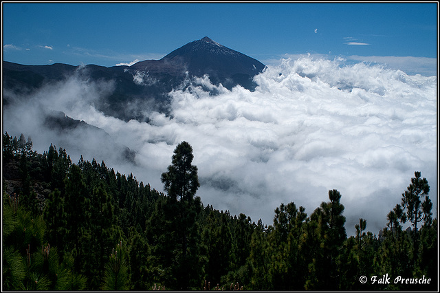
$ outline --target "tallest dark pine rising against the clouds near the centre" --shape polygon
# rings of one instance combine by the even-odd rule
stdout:
[[[156,249],[153,255],[162,265],[166,274],[164,284],[187,290],[196,285],[201,278],[198,260],[199,232],[196,218],[201,212],[199,197],[194,197],[199,188],[197,166],[193,166],[192,147],[188,142],[177,145],[172,164],[168,172],[162,173],[162,182],[168,197],[164,201],[157,201],[155,211],[151,217],[151,235]],[[160,230],[157,231],[157,228]]]

